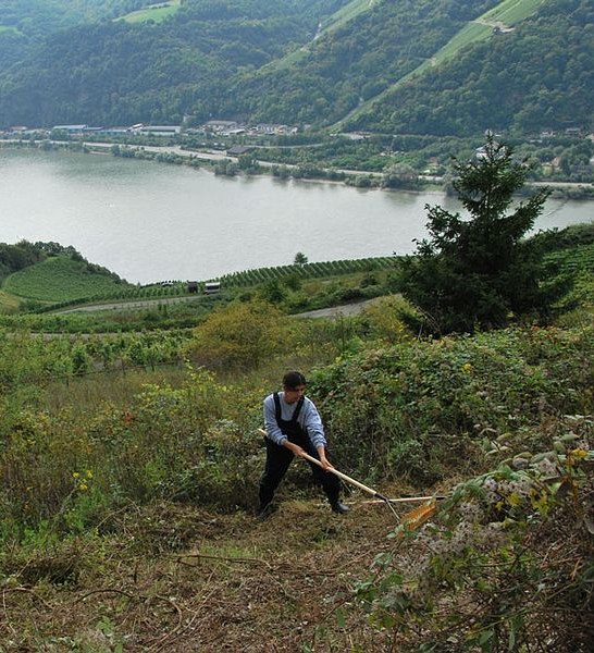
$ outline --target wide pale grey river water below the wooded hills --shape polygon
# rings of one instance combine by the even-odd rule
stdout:
[[[441,193],[362,190],[110,155],[0,149],[0,242],[73,245],[132,283],[205,280],[292,263],[414,250]],[[594,218],[592,201],[548,200],[536,229]]]

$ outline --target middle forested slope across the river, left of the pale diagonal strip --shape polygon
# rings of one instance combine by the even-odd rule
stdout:
[[[399,0],[367,3],[336,21],[288,69],[238,79],[223,112],[255,120],[329,124],[414,71],[497,0]],[[361,9],[361,5],[358,5]]]

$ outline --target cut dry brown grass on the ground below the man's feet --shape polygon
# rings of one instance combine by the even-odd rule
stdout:
[[[1,650],[385,651],[363,617],[341,628],[337,612],[394,526],[366,503],[336,516],[287,501],[263,523],[173,504],[128,509],[101,526],[117,535],[14,569]]]

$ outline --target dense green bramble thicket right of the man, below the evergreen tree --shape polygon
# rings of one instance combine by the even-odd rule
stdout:
[[[310,394],[338,465],[423,485],[480,465],[484,438],[591,411],[593,353],[592,325],[405,342],[317,370]]]

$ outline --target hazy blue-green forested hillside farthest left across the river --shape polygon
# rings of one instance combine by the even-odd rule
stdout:
[[[49,34],[1,74],[0,124],[203,116],[232,75],[311,39],[345,3],[193,0],[160,23],[111,21]]]

